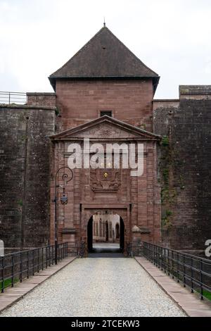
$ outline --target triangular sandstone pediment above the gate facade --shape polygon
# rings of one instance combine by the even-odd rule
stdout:
[[[115,118],[103,116],[96,120],[91,120],[72,129],[51,136],[54,141],[72,139],[138,139],[138,140],[160,140],[160,136],[151,132],[134,127]]]

